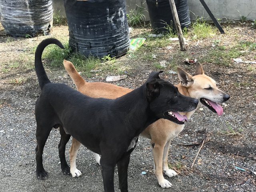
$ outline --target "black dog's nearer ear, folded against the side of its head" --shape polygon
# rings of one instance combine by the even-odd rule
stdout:
[[[147,88],[147,98],[148,101],[151,102],[154,98],[158,97],[160,94],[160,83],[154,79],[148,80],[146,83],[146,88]]]

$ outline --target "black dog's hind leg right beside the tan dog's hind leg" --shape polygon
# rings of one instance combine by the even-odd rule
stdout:
[[[70,139],[70,135],[66,134],[62,126],[60,126],[60,136],[61,137],[60,137],[60,143],[58,145],[58,148],[59,148],[61,170],[64,175],[70,175],[70,167],[68,166],[66,157],[65,157],[66,144]]]

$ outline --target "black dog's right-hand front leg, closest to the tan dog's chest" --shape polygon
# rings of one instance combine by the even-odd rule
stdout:
[[[128,192],[128,166],[130,162],[130,154],[124,154],[124,156],[117,162],[119,188],[121,192]]]

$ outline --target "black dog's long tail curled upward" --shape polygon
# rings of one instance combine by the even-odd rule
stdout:
[[[42,53],[44,51],[44,48],[46,48],[46,46],[50,44],[56,44],[60,48],[64,49],[64,46],[61,44],[61,42],[54,38],[45,39],[37,46],[36,53],[35,53],[35,70],[36,70],[36,75],[37,75],[41,90],[45,84],[50,83],[50,80],[46,75],[46,72],[44,70],[44,66],[42,63]]]

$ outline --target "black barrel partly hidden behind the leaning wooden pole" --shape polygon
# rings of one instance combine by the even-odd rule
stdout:
[[[190,25],[188,0],[174,0],[181,28]],[[157,32],[166,32],[167,25],[175,29],[169,0],[146,0],[150,23]],[[166,25],[167,24],[167,25]]]

